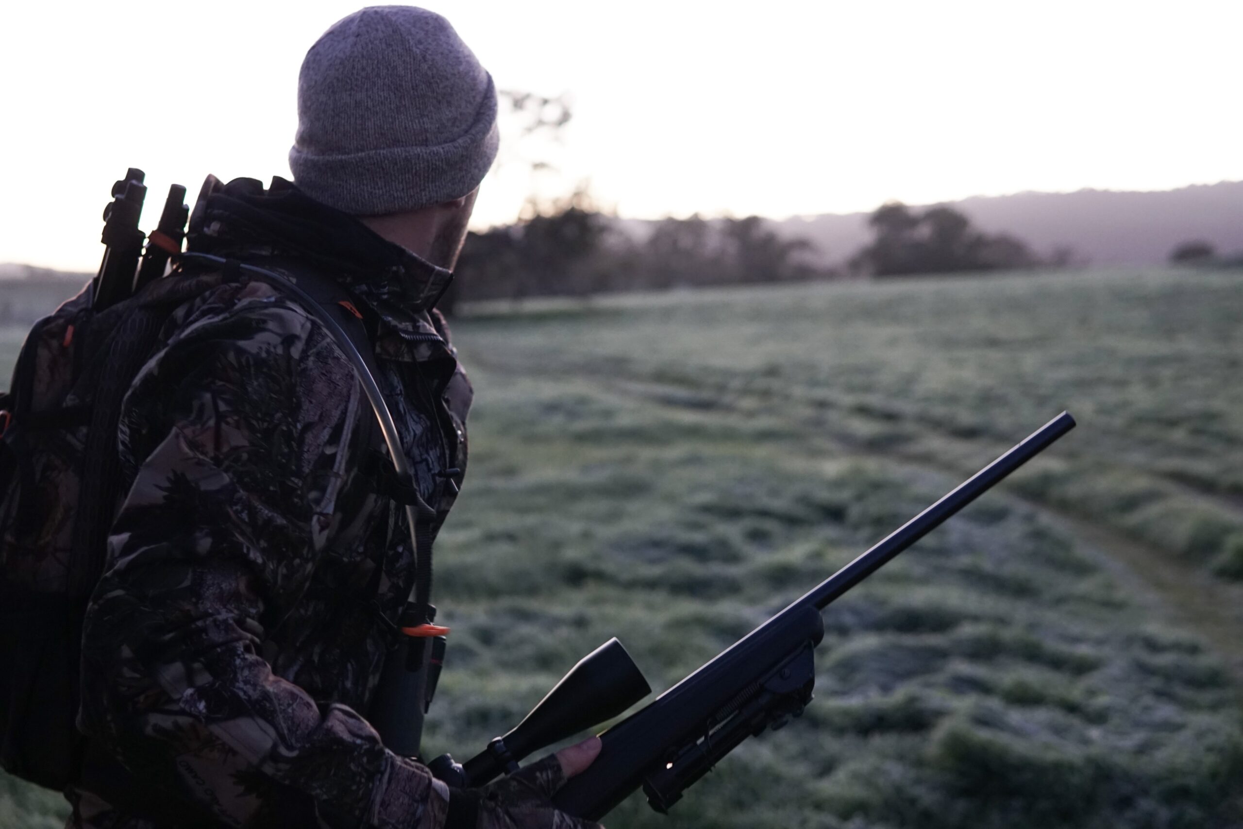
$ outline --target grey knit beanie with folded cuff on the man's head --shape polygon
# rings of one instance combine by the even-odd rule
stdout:
[[[302,61],[290,169],[317,201],[359,216],[451,201],[497,143],[492,76],[438,14],[355,11]]]

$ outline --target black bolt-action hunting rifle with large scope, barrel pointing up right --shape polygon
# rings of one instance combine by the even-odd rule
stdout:
[[[600,735],[599,756],[553,797],[558,809],[599,820],[640,785],[665,813],[682,792],[743,740],[777,730],[803,712],[815,682],[813,650],[823,610],[878,568],[943,523],[1075,425],[1065,411],[879,544],[830,575],[710,662]],[[484,785],[518,761],[619,716],[650,692],[617,639],[584,656],[530,715],[479,756],[431,761],[450,785]]]

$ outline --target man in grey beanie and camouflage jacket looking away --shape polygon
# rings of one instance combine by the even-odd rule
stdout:
[[[444,521],[471,388],[433,309],[497,149],[492,80],[431,12],[364,9],[306,56],[296,186],[240,179],[191,250],[336,280],[367,322],[421,500]],[[71,827],[578,827],[548,798],[588,741],[450,789],[364,718],[410,593],[403,510],[338,344],[267,283],[203,278],[135,378],[132,486],[83,634]]]

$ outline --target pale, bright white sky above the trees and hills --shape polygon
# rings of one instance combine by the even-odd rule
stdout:
[[[568,93],[548,150],[623,216],[870,210],[1243,179],[1243,1],[459,0],[498,88]],[[302,56],[357,0],[0,11],[0,262],[93,271],[112,181],[288,176]],[[484,183],[480,226],[528,175]]]

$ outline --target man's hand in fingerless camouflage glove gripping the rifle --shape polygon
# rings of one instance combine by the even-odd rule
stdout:
[[[552,805],[552,795],[599,753],[600,738],[590,737],[481,789],[454,789],[445,829],[602,829]]]

